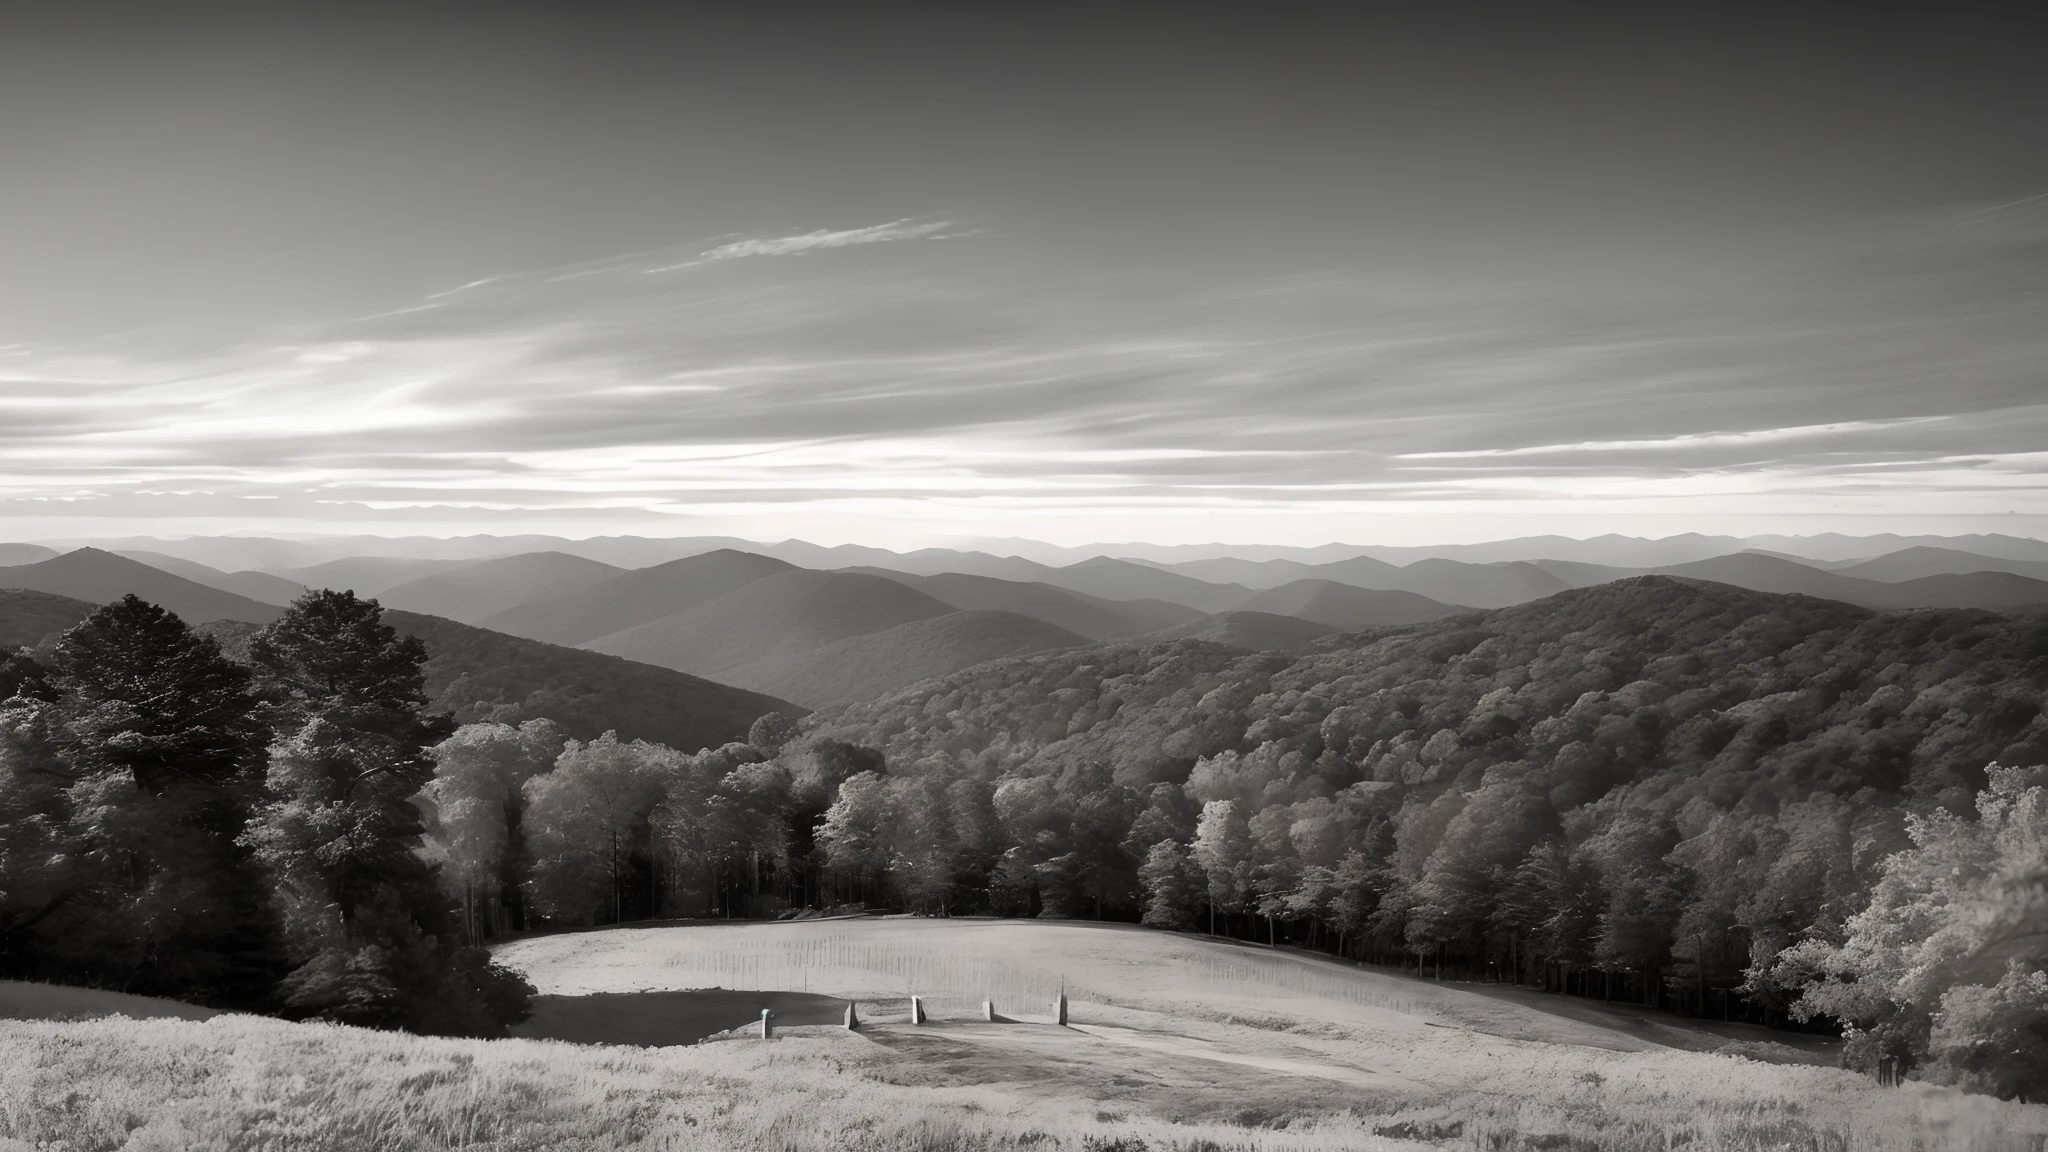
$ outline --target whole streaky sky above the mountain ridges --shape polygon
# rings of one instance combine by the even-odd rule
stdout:
[[[2036,29],[1700,8],[0,6],[0,539],[2048,535]]]

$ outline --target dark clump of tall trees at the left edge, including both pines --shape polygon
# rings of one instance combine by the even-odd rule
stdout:
[[[221,654],[125,596],[0,664],[0,972],[502,1035],[530,988],[449,914],[412,797],[453,724],[375,601]]]

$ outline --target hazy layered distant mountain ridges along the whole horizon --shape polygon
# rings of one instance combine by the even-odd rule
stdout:
[[[803,541],[471,537],[440,545],[461,551],[485,541],[555,547],[494,558],[362,553],[268,572],[227,572],[188,556],[213,549],[244,560],[256,553],[283,558],[301,545],[332,547],[334,541],[195,539],[174,541],[178,551],[166,551],[172,543],[164,541],[156,541],[160,547],[117,541],[123,553],[84,547],[59,556],[39,545],[0,545],[0,556],[23,560],[0,566],[0,588],[90,603],[135,592],[193,623],[246,625],[274,619],[279,605],[301,586],[354,588],[395,613],[418,613],[403,619],[436,621],[418,627],[440,629],[442,644],[463,637],[465,650],[492,650],[496,656],[489,660],[506,666],[555,666],[547,676],[500,676],[498,687],[475,689],[487,707],[514,709],[518,685],[524,693],[561,691],[578,674],[616,678],[616,666],[659,668],[760,693],[762,699],[831,707],[987,660],[1135,637],[1196,637],[1247,650],[1303,652],[1335,631],[1417,625],[1647,574],[1878,611],[2048,607],[2048,545],[2019,537],[1952,537],[1942,543],[1812,537],[1810,549],[1833,558],[1784,551],[1806,547],[1798,539],[1772,541],[1778,545],[1772,549],[1716,551],[1743,541],[1532,537],[1458,545],[1464,558],[1356,547],[1348,549],[1350,556],[1331,556],[1333,545],[1292,549],[1292,556],[1243,549],[1243,556],[1182,560],[1161,560],[1161,549],[1149,549],[1153,556],[1092,556],[1065,566],[987,551],[895,553]],[[698,549],[702,543],[719,547]],[[1886,543],[1898,547],[1872,551]],[[426,547],[422,541],[352,545]],[[1559,556],[1485,560],[1540,547]],[[592,551],[643,564],[612,564],[592,558]],[[664,551],[684,556],[662,560]],[[1645,568],[1585,556],[1688,560]],[[18,631],[39,627],[29,623],[29,601],[16,603],[16,611],[27,613]],[[47,615],[43,605],[43,615],[33,619]],[[496,640],[485,644],[479,637]],[[596,664],[563,672],[582,660],[561,656],[571,648],[584,648],[592,660],[616,658],[604,664],[612,672],[600,672]],[[543,650],[555,656],[537,658],[535,652]],[[479,656],[465,674],[483,685],[477,676],[485,676],[489,660]],[[676,689],[676,699],[688,695]],[[657,709],[653,699],[645,697],[635,707]],[[713,711],[745,711],[756,703],[721,703]]]

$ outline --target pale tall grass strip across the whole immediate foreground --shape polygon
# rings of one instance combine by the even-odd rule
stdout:
[[[1497,1093],[1352,1109],[1298,1109],[1251,1084],[1260,1107],[1186,1119],[1104,1113],[1087,1068],[1065,1060],[1055,1080],[1065,1095],[905,1082],[915,1054],[836,1029],[627,1050],[254,1017],[0,1021],[0,1150],[2034,1152],[2048,1140],[2040,1107],[1935,1091],[1817,1093],[1821,1070],[1765,1070],[1808,1078],[1726,1095],[1761,1082],[1739,1062],[1722,1062],[1720,1091],[1692,1095],[1630,1076],[1628,1060],[1610,1056],[1616,1076],[1503,1066]],[[1677,1070],[1694,1074],[1716,1060],[1677,1056]],[[1130,1064],[1128,1054],[1108,1060],[1098,1070]]]

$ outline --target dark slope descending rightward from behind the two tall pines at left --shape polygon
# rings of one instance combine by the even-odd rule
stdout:
[[[770,711],[805,707],[698,676],[635,664],[616,656],[504,635],[483,627],[385,609],[385,623],[426,644],[426,693],[432,707],[463,724],[553,719],[578,740],[612,730],[627,740],[655,740],[694,752],[743,740]],[[256,627],[217,621],[203,631],[248,658]]]

